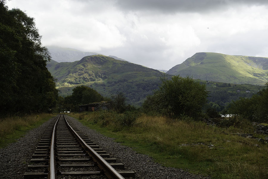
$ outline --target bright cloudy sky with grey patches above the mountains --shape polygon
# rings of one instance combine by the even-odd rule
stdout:
[[[268,57],[267,0],[11,0],[44,46],[169,70],[197,52]]]

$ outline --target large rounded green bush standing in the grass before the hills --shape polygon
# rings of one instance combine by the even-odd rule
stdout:
[[[205,84],[177,75],[171,80],[163,78],[159,90],[148,96],[143,106],[172,117],[187,115],[196,118],[206,104],[207,96]]]

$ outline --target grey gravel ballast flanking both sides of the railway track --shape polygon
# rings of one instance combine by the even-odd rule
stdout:
[[[107,153],[117,159],[118,163],[124,163],[126,170],[132,170],[136,173],[136,179],[179,179],[191,178],[201,179],[208,178],[200,175],[193,175],[182,169],[174,169],[172,167],[163,167],[159,163],[155,163],[152,158],[147,155],[137,154],[130,147],[122,146],[120,143],[113,141],[101,135],[95,130],[88,129],[78,120],[67,116],[73,124],[75,124],[85,135],[88,135],[92,141],[99,144]],[[27,165],[35,152],[39,139],[42,137],[46,128],[54,120],[54,118],[42,124],[36,129],[29,131],[23,138],[17,142],[11,143],[7,147],[0,149],[0,178],[22,179],[24,172],[27,171]]]

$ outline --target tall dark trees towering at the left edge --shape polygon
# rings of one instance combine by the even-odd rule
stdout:
[[[48,111],[56,104],[50,55],[30,18],[0,1],[0,111],[2,115]]]

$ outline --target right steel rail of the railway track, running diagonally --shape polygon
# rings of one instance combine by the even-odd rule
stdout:
[[[92,149],[78,134],[74,131],[74,129],[70,126],[65,116],[63,115],[65,122],[71,132],[77,137],[77,139],[81,142],[81,144],[85,147],[86,151],[91,155],[92,159],[97,162],[100,169],[103,170],[104,174],[108,178],[113,179],[125,179],[120,173],[118,173],[107,161],[105,161],[94,149]]]

